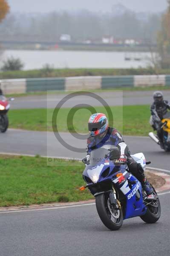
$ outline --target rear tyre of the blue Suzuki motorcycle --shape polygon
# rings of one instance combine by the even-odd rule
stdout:
[[[154,188],[153,190],[154,194],[157,195]],[[153,205],[154,206],[148,205],[147,212],[145,213],[145,215],[140,216],[140,218],[146,223],[155,223],[161,216],[161,204],[159,199],[155,203],[153,203]]]

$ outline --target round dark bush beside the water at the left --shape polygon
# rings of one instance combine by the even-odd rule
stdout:
[[[1,67],[2,71],[13,71],[13,70],[22,70],[24,67],[23,62],[20,58],[10,57],[6,61],[3,61],[3,66]]]

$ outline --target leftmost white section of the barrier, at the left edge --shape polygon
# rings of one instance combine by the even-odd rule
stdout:
[[[1,80],[0,87],[4,94],[26,93],[26,79]]]

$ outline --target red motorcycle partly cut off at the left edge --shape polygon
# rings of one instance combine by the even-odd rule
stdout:
[[[11,98],[11,101],[14,99]],[[7,112],[10,109],[10,104],[8,100],[6,99],[5,96],[0,95],[0,131],[1,132],[6,132],[8,129],[9,121],[8,121],[8,116]]]

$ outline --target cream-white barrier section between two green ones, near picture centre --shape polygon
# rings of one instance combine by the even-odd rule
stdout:
[[[101,89],[101,76],[81,76],[66,78],[65,90]]]

